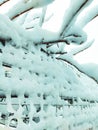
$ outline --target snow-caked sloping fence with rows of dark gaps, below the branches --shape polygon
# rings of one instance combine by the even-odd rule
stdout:
[[[83,74],[70,64],[46,55],[39,45],[19,47],[13,40],[5,42],[0,45],[1,124],[18,130],[21,127],[79,130],[84,126],[88,129],[93,121],[97,122],[95,97],[98,93],[94,91],[97,90],[94,81],[85,77],[93,85],[81,84]],[[87,93],[82,93],[79,84]]]

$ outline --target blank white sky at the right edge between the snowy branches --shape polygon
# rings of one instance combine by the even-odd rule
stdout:
[[[80,54],[78,54],[75,59],[81,63],[81,64],[85,64],[85,63],[96,63],[98,64],[98,18],[94,19],[92,22],[90,22],[86,27],[85,27],[85,31],[88,33],[88,38],[89,39],[95,39],[93,45],[81,52]]]

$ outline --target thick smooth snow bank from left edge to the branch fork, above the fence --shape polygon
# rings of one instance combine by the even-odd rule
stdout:
[[[18,27],[19,25],[13,24],[6,16],[0,15],[0,37],[6,38],[8,40],[13,40],[16,46],[21,46],[21,41],[25,44],[26,40],[33,41],[34,43],[38,43],[40,41],[50,41],[50,40],[58,40],[58,34],[50,32],[48,30],[44,30],[41,28],[35,28],[33,31],[25,31],[22,27]],[[5,21],[5,22],[3,22]],[[12,25],[12,26],[11,26]],[[14,29],[12,29],[14,28]],[[6,30],[6,33],[5,33]],[[13,30],[11,32],[11,30]],[[9,33],[10,32],[10,33]],[[39,35],[37,35],[39,33]],[[48,37],[50,35],[50,37]],[[22,39],[21,39],[21,37]],[[33,37],[32,37],[33,36]],[[26,38],[25,38],[26,37]],[[24,38],[24,39],[23,39]]]

